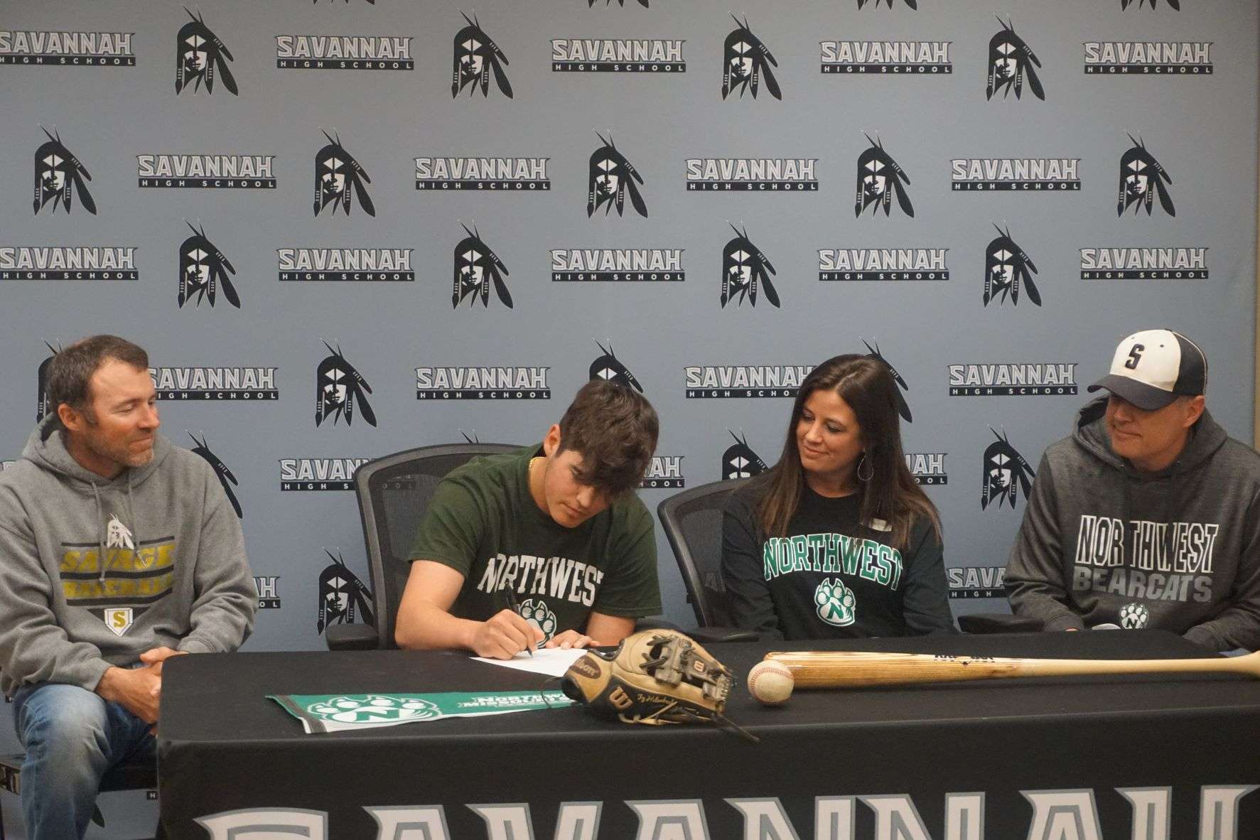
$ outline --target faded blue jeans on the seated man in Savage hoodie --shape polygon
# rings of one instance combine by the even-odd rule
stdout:
[[[150,724],[77,685],[21,686],[13,718],[26,751],[21,810],[32,840],[82,837],[101,777],[129,758],[156,754]]]

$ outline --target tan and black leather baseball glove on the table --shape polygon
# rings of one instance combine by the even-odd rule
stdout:
[[[626,636],[615,651],[588,651],[561,680],[564,694],[622,723],[721,723],[733,678],[707,650],[673,630]]]

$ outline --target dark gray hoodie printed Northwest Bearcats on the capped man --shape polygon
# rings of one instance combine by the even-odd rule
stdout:
[[[1111,450],[1106,398],[1041,458],[1005,584],[1046,630],[1099,623],[1260,649],[1260,455],[1206,411],[1181,457],[1143,474]]]

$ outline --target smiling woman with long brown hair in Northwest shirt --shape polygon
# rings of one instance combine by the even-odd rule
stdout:
[[[906,467],[896,388],[861,355],[801,383],[779,463],[723,511],[737,626],[784,639],[954,632],[940,518]]]

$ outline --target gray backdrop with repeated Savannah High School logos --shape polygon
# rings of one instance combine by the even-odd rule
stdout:
[[[1003,607],[1031,468],[1125,334],[1200,341],[1251,428],[1254,0],[66,0],[0,26],[0,451],[57,348],[146,346],[166,434],[233,479],[247,650],[323,646],[334,562],[368,583],[358,463],[539,440],[591,375],[660,412],[654,508],[774,463],[809,368],[878,354],[960,613]]]

